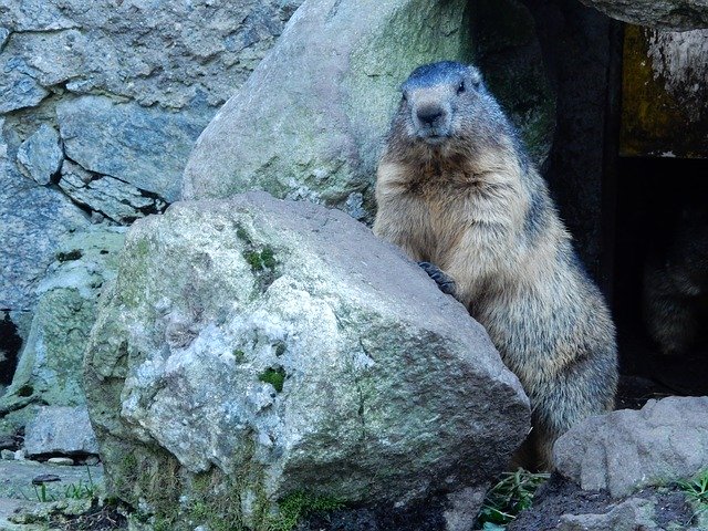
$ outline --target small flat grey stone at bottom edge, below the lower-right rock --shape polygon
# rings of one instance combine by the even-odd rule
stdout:
[[[556,529],[559,531],[658,530],[654,506],[652,500],[629,498],[605,514],[563,514]]]

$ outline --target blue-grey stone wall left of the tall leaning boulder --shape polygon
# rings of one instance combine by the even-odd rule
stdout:
[[[299,3],[0,2],[0,309],[33,310],[82,209],[127,223],[176,198],[194,140]],[[59,188],[51,131],[73,164]]]

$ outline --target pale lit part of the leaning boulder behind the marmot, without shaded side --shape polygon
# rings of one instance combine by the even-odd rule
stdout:
[[[197,140],[183,197],[263,189],[346,209],[351,194],[372,184],[398,85],[421,63],[469,56],[466,7],[462,0],[302,4]]]

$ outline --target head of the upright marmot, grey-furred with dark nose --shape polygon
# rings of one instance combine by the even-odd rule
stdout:
[[[513,132],[475,66],[425,64],[400,86],[392,138],[430,149],[507,144]]]

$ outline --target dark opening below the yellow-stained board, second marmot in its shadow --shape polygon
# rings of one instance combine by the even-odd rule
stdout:
[[[617,164],[612,299],[621,371],[667,394],[708,393],[706,176],[707,159]]]

